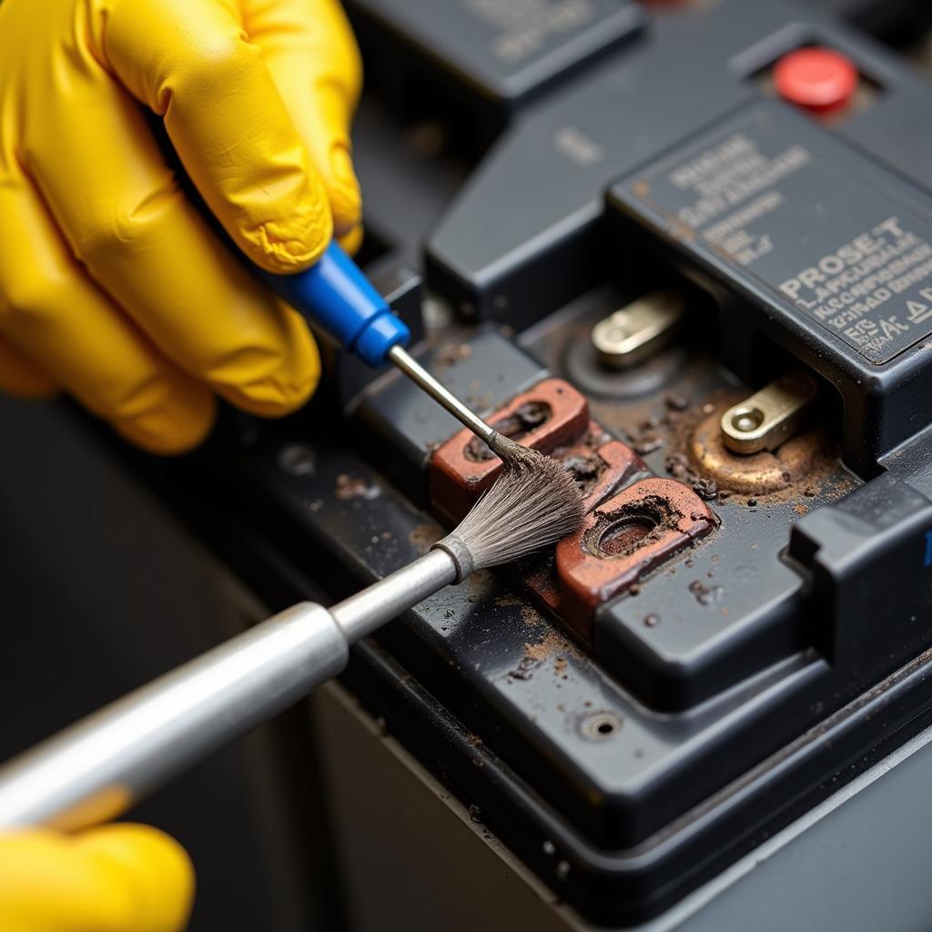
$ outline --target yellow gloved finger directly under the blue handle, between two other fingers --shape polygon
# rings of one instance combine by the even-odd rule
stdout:
[[[158,349],[232,404],[265,416],[304,404],[320,375],[306,324],[185,198],[126,91],[98,83],[87,99],[72,89],[70,102],[49,107],[69,171],[54,171],[48,144],[27,167],[91,277]]]

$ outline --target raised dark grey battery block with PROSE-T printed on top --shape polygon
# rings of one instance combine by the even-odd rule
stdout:
[[[812,119],[759,102],[612,185],[610,204],[720,295],[735,371],[749,376],[777,344],[841,393],[856,469],[870,473],[925,417],[925,191]]]

